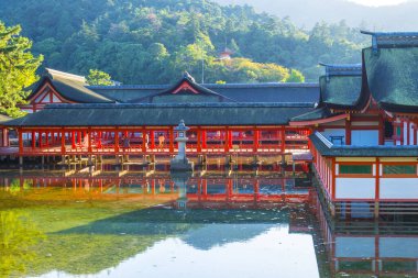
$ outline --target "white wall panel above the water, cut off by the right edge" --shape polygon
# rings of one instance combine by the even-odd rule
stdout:
[[[418,177],[381,178],[381,199],[418,199]]]

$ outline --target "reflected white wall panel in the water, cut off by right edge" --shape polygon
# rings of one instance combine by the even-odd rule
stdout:
[[[381,237],[380,255],[382,258],[418,258],[418,238]]]

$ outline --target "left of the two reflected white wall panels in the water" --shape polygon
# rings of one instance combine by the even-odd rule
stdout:
[[[336,237],[336,257],[374,257],[374,237]]]

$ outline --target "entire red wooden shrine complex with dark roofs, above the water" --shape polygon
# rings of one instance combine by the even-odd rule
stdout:
[[[372,46],[362,64],[321,64],[318,84],[206,85],[185,74],[169,86],[88,86],[46,69],[22,105],[29,113],[0,118],[0,152],[21,164],[174,156],[184,120],[189,156],[299,159],[332,213],[417,214],[418,33],[363,33]]]

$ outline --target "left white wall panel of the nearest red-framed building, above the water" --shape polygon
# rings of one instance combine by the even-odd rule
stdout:
[[[336,178],[337,199],[374,199],[374,178]]]

